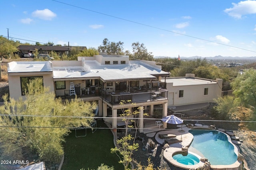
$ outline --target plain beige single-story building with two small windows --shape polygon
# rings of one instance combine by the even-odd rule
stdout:
[[[181,106],[213,102],[221,97],[222,79],[210,80],[186,74],[185,77],[172,77],[162,80],[168,90],[168,106]]]

